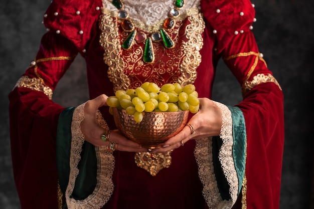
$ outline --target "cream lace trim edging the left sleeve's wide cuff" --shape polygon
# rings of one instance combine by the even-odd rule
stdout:
[[[97,184],[95,190],[83,200],[71,198],[74,189],[75,179],[79,173],[77,165],[80,161],[82,145],[85,141],[81,132],[80,124],[84,119],[85,104],[78,106],[73,113],[72,120],[72,142],[70,155],[70,178],[65,192],[66,202],[69,209],[96,209],[101,208],[110,198],[113,191],[112,173],[114,168],[114,157],[107,151],[106,146],[95,147],[97,155]],[[98,123],[106,130],[109,130],[101,113],[97,112]]]

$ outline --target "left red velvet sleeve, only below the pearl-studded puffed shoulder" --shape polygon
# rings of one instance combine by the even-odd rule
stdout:
[[[64,47],[54,47],[59,45]],[[64,108],[45,93],[52,93],[75,53],[63,37],[45,34],[37,63],[9,95],[13,170],[22,208],[58,208],[56,130]],[[56,57],[61,60],[49,59]]]

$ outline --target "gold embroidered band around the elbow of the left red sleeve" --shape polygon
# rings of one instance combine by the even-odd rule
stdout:
[[[29,78],[28,76],[22,76],[14,88],[16,87],[26,87],[32,90],[41,91],[52,99],[52,89],[42,83],[39,78]]]

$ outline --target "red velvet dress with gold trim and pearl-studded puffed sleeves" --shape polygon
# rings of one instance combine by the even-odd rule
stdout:
[[[51,95],[78,53],[86,60],[91,99],[100,94],[110,96],[115,90],[134,88],[145,81],[159,85],[176,81],[194,83],[199,97],[211,98],[220,58],[237,78],[243,92],[243,101],[229,107],[233,121],[232,162],[223,164],[226,161],[221,160],[220,149],[224,145],[214,138],[204,140],[207,147],[204,152],[219,159],[210,157],[213,162],[208,164],[213,165],[214,171],[205,169],[211,166],[203,166],[204,160],[200,162],[204,143],[194,140],[174,150],[171,166],[155,176],[137,167],[134,153],[115,151],[114,189],[102,208],[223,208],[224,205],[278,208],[284,138],[283,96],[250,31],[254,20],[252,4],[247,0],[202,0],[203,16],[191,10],[177,22],[176,33],[171,36],[180,43],[176,42],[174,49],[166,50],[162,43],[154,44],[158,52],[153,64],[142,62],[142,52],[134,56],[132,51],[120,49],[120,53],[115,53],[114,40],[121,45],[127,34],[122,33],[117,18],[101,8],[100,0],[53,1],[44,18],[50,31],[42,38],[35,62],[9,96],[13,168],[22,208],[60,206],[58,175],[62,174],[57,173],[56,138],[59,116],[65,108],[55,104]],[[189,38],[186,33],[189,30],[196,37]],[[116,39],[108,36],[115,32],[119,32]],[[201,36],[197,36],[199,32]],[[195,42],[189,45],[191,40]],[[143,45],[133,47],[142,49]],[[191,50],[188,51],[191,54],[188,56],[181,46]],[[101,113],[109,128],[115,129],[108,109],[101,109]],[[239,118],[243,118],[242,122]],[[245,134],[241,135],[238,129]],[[234,148],[239,146],[238,141],[244,144],[239,152]],[[237,167],[235,156],[244,159],[242,171]],[[229,167],[236,167],[232,172],[238,175],[234,187],[238,198],[232,197],[233,183],[225,175]],[[211,172],[211,184],[205,185],[208,181],[204,181],[203,175]],[[217,185],[204,190],[212,184]],[[215,194],[209,192],[213,190]],[[212,202],[219,203],[213,206]]]

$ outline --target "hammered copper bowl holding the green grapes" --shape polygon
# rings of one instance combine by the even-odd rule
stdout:
[[[144,112],[140,123],[124,109],[113,108],[113,118],[118,130],[128,139],[144,148],[159,148],[179,133],[188,121],[189,110],[178,112]]]

